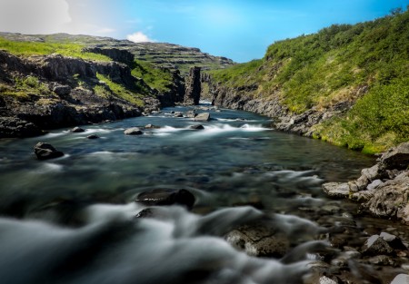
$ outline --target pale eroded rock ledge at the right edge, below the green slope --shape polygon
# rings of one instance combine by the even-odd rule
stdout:
[[[328,182],[323,190],[335,198],[361,202],[361,210],[409,224],[409,142],[384,152],[355,181]]]

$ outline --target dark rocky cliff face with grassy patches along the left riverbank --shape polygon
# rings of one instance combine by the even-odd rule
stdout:
[[[0,73],[0,138],[123,119],[159,108],[155,91],[116,62],[58,54],[21,58],[0,51]],[[101,75],[109,82],[98,79]],[[115,93],[114,86],[121,86],[131,99]]]

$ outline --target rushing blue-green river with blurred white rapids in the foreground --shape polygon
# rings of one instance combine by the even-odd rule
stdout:
[[[305,248],[340,211],[323,220],[324,181],[356,178],[374,160],[357,152],[269,127],[254,113],[211,111],[204,130],[162,113],[0,141],[0,279],[2,283],[296,283]],[[140,136],[124,130],[160,126]],[[100,139],[89,140],[97,134]],[[36,142],[65,156],[40,162]],[[192,212],[164,207],[160,219],[135,219],[135,196],[155,188],[187,189]],[[263,211],[232,207],[258,202]],[[344,207],[343,207],[344,206]],[[334,216],[333,216],[334,215]],[[304,236],[286,260],[234,250],[224,234],[243,221],[271,219],[288,238]],[[319,223],[319,220],[322,222]],[[298,240],[298,239],[297,239]],[[311,246],[310,246],[311,244]],[[315,243],[316,245],[316,243]],[[293,255],[294,255],[293,251]],[[285,258],[284,258],[285,259]],[[291,260],[290,260],[291,259]]]

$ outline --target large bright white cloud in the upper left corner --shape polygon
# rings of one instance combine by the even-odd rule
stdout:
[[[71,22],[65,0],[1,0],[0,29],[23,34],[58,33]]]

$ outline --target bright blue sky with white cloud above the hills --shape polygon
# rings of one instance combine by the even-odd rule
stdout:
[[[0,31],[198,47],[242,63],[275,41],[406,10],[409,0],[0,0]]]

